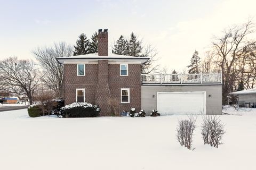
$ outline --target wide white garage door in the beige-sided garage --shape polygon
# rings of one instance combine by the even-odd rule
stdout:
[[[163,115],[205,114],[205,91],[157,92],[157,110]]]

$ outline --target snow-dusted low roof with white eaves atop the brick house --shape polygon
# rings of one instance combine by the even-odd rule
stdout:
[[[108,60],[109,63],[134,63],[142,64],[150,58],[148,57],[134,57],[127,55],[109,54],[108,56],[99,56],[98,53],[77,55],[70,57],[58,57],[57,60],[61,64],[71,63],[98,63],[98,60]]]

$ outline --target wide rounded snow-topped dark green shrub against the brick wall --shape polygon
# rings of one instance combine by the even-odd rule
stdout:
[[[97,117],[100,108],[90,103],[73,103],[61,108],[61,116],[63,117]]]

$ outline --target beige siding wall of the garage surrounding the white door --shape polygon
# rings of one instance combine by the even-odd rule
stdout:
[[[141,109],[150,114],[152,109],[157,109],[157,92],[185,92],[206,91],[206,114],[221,114],[222,112],[222,86],[141,86]],[[155,95],[153,97],[153,95]],[[209,97],[211,95],[211,97]],[[179,100],[179,99],[177,99]],[[180,101],[186,105],[186,101]]]

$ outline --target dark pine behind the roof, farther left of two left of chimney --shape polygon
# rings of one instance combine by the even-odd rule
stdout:
[[[74,46],[75,50],[73,52],[73,55],[89,54],[89,43],[89,39],[87,39],[86,35],[82,33],[76,41],[76,46]]]

